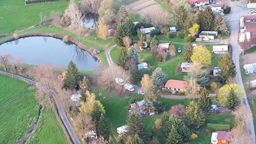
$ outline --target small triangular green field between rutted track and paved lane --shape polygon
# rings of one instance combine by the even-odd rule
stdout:
[[[28,144],[64,144],[68,143],[60,121],[56,119],[53,108],[45,108],[42,111],[38,127]]]

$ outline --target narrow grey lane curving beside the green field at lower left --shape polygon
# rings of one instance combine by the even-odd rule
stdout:
[[[29,84],[33,84],[35,85],[36,82],[35,81],[32,81],[31,79],[27,79],[25,77],[20,77],[20,76],[17,76],[17,75],[14,75],[14,74],[10,74],[8,72],[3,72],[3,71],[0,71],[0,74],[3,74],[5,76],[9,76],[9,77],[12,77],[12,78],[15,78],[15,79],[19,79],[21,81],[25,81],[26,83],[29,83]],[[63,108],[61,107],[60,105],[60,102],[58,101],[58,97],[56,97],[56,93],[52,93],[52,97],[54,99],[54,102],[56,104],[56,107],[57,107],[57,110],[58,110],[58,115],[60,116],[61,118],[61,122],[63,123],[63,125],[65,126],[65,129],[67,130],[68,132],[68,135],[70,136],[72,142],[74,144],[81,144],[79,139],[77,138],[76,136],[76,133],[74,132],[74,130],[72,129],[72,126],[70,125],[70,123],[68,122],[68,118],[67,116],[65,115],[65,112],[63,110]]]

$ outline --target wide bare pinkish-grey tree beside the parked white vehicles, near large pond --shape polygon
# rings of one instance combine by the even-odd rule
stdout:
[[[130,75],[127,74],[122,67],[110,65],[101,72],[99,84],[108,88],[109,90],[116,90],[118,92],[124,91],[124,86],[116,83],[116,78],[123,79],[124,83],[128,83],[130,81]]]

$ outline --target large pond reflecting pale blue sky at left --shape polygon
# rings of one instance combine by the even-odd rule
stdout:
[[[67,68],[74,61],[79,70],[96,70],[99,61],[89,52],[79,49],[75,44],[67,44],[57,38],[33,36],[20,38],[0,45],[0,54],[11,54],[28,65],[50,63],[52,67]]]

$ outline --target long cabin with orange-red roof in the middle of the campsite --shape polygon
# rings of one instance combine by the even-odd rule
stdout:
[[[187,82],[186,81],[179,81],[175,79],[169,79],[166,84],[164,85],[164,88],[167,90],[171,90],[172,92],[178,91],[178,92],[186,92],[185,86]]]

